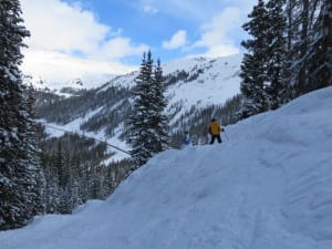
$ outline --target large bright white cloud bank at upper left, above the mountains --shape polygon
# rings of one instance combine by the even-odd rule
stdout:
[[[25,41],[29,49],[24,51],[22,71],[33,77],[59,81],[83,74],[123,73],[125,66],[110,61],[143,54],[147,48],[121,37],[121,28],[98,22],[93,12],[79,3],[21,0],[21,6],[24,25],[31,32]]]

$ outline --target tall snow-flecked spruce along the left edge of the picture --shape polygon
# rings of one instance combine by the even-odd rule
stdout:
[[[19,70],[23,39],[30,34],[20,14],[18,0],[0,1],[0,229],[23,226],[39,212],[33,121]]]

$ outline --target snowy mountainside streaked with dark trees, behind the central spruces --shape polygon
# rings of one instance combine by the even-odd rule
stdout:
[[[168,100],[166,112],[172,117],[172,132],[180,131],[181,127],[178,126],[190,128],[190,123],[197,123],[195,112],[212,105],[222,105],[239,93],[241,58],[241,54],[215,59],[191,58],[163,65],[165,95]],[[63,132],[50,128],[58,127],[84,133],[86,136],[126,149],[127,146],[123,142],[124,121],[131,112],[129,91],[135,85],[134,80],[137,75],[138,72],[118,75],[80,96],[43,105],[39,110],[39,118],[49,125],[50,134],[62,135]],[[184,116],[185,123],[179,122]],[[206,125],[207,123],[203,124],[201,129]],[[123,154],[118,156],[126,157]]]

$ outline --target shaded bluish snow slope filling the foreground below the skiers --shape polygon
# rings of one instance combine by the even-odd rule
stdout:
[[[105,201],[0,232],[1,249],[331,249],[332,87],[167,151]]]

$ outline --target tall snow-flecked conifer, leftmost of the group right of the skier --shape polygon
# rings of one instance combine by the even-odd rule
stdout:
[[[240,73],[242,79],[240,90],[243,95],[240,111],[242,118],[269,108],[269,97],[266,92],[266,83],[269,80],[267,76],[269,17],[262,0],[258,0],[248,18],[250,21],[245,23],[242,28],[252,39],[241,42],[242,46],[247,49]]]

